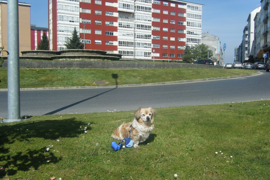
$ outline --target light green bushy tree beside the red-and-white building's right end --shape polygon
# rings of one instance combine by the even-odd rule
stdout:
[[[213,56],[213,51],[208,49],[208,46],[205,44],[196,44],[193,49],[194,59],[207,59],[208,57]],[[208,55],[209,52],[209,55]]]

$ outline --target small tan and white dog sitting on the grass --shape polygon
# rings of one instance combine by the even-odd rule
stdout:
[[[144,142],[151,131],[154,129],[154,116],[156,116],[156,110],[149,108],[139,108],[134,113],[135,118],[133,122],[122,123],[114,133],[112,138],[117,140],[123,140],[129,136],[130,128],[130,138],[133,140],[134,148],[139,148],[139,143]],[[132,125],[130,127],[130,125]]]

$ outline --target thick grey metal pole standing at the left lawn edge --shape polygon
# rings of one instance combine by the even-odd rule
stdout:
[[[8,0],[8,117],[3,122],[21,121],[19,74],[19,5]]]

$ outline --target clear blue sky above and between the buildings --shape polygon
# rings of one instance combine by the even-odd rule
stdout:
[[[48,28],[48,0],[19,0],[32,4],[31,24]],[[202,32],[219,36],[226,43],[225,64],[234,60],[234,48],[242,42],[242,35],[250,12],[261,5],[260,0],[190,0],[203,4]]]

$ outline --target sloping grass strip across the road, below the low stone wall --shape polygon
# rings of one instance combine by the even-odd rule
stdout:
[[[257,73],[246,69],[20,69],[20,88],[106,86],[229,77]],[[117,77],[117,78],[116,78]],[[7,88],[7,70],[0,70],[0,89]]]

